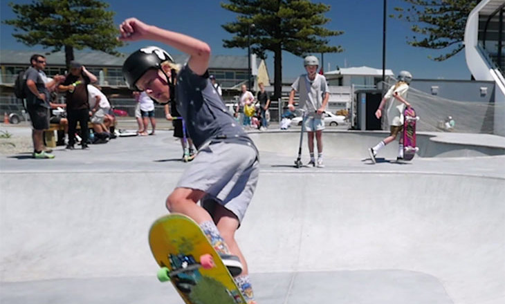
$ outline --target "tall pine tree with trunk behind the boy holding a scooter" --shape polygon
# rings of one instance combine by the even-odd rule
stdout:
[[[339,30],[328,30],[324,17],[330,6],[308,0],[230,0],[221,7],[238,14],[237,21],[226,23],[223,28],[235,34],[223,40],[226,48],[247,48],[248,31],[252,53],[266,58],[266,51],[274,54],[274,95],[281,96],[282,51],[297,56],[311,53],[340,53],[340,46],[329,46],[325,37],[341,35]],[[255,27],[250,29],[251,24]]]

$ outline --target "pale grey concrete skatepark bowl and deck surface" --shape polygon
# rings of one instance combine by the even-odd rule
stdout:
[[[295,169],[296,130],[251,133],[237,238],[259,304],[504,303],[504,137],[418,136],[413,162],[390,145],[372,165],[385,133],[329,129],[326,167]],[[1,156],[0,302],[182,303],[147,243],[187,166],[172,132],[55,155]]]

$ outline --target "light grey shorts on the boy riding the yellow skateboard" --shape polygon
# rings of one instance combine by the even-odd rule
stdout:
[[[201,147],[177,188],[207,193],[201,205],[212,217],[215,204],[220,204],[241,222],[255,192],[258,173],[259,161],[254,148],[217,142]]]

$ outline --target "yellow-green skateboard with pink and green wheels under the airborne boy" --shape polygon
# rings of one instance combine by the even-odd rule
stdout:
[[[172,213],[156,220],[149,245],[160,266],[158,280],[171,281],[186,304],[246,304],[230,272],[194,220]]]

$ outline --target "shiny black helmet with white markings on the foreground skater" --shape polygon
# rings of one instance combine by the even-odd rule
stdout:
[[[122,75],[125,77],[128,88],[138,91],[135,86],[138,79],[149,69],[161,69],[161,63],[164,61],[174,62],[174,59],[167,51],[157,46],[146,46],[131,53],[122,64]]]

